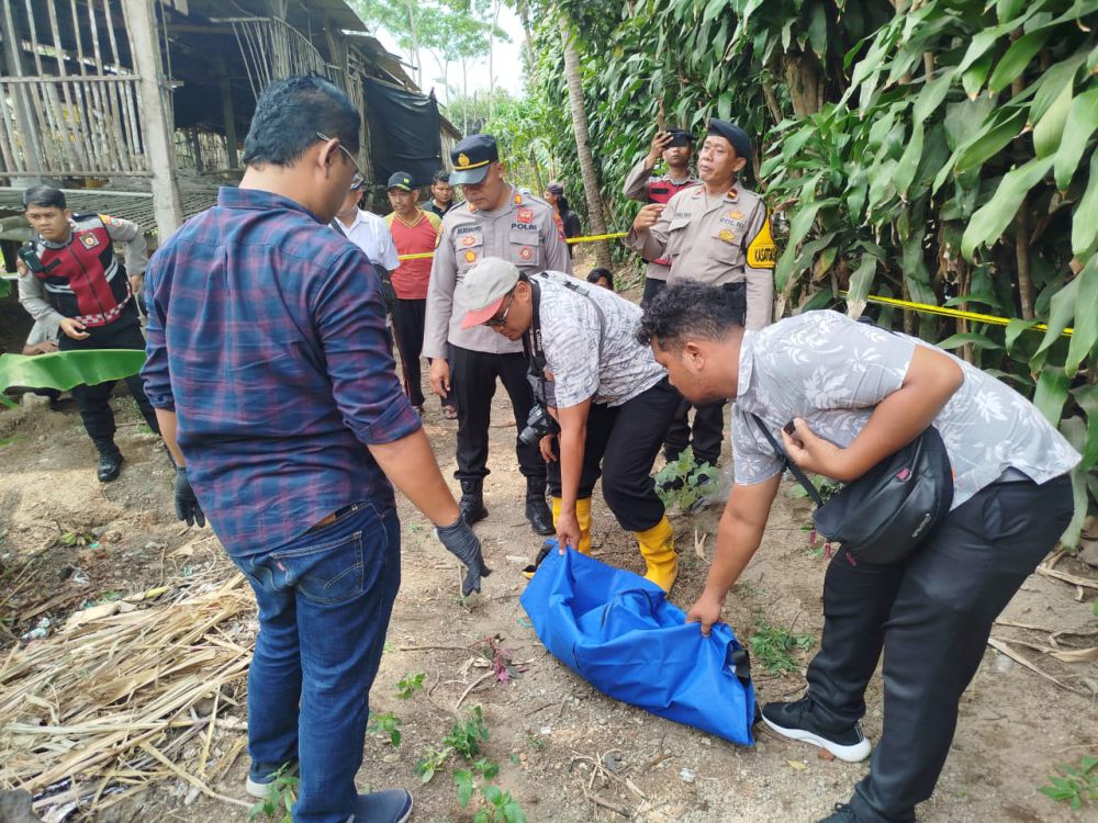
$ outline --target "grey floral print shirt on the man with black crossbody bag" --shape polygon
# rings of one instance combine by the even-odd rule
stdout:
[[[736,482],[761,483],[784,465],[752,413],[774,437],[788,420],[803,417],[818,436],[845,448],[874,407],[903,385],[916,346],[933,348],[838,312],[806,312],[761,331],[746,331],[732,407]],[[1079,462],[1078,453],[1032,403],[1006,383],[948,357],[961,368],[964,382],[933,425],[953,467],[953,508],[1008,472],[1041,484]]]

